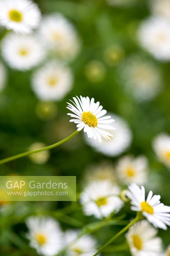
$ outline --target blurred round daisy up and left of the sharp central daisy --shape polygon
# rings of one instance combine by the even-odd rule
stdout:
[[[39,68],[32,78],[32,90],[40,100],[58,101],[72,89],[71,69],[57,61]]]

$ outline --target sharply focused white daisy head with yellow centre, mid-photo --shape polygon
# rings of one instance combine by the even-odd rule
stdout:
[[[72,102],[68,103],[67,108],[73,113],[67,115],[73,117],[70,122],[77,124],[77,131],[83,130],[87,133],[88,138],[98,140],[102,142],[101,138],[110,140],[113,134],[107,130],[115,130],[110,123],[114,122],[114,119],[110,119],[111,116],[104,116],[107,111],[103,109],[100,102],[95,103],[94,98],[91,100],[89,97],[73,97]]]

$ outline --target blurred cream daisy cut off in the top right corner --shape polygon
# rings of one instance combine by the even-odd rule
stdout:
[[[151,10],[153,15],[170,20],[170,1],[151,0]]]

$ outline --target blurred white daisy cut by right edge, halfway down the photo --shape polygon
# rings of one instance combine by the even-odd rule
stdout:
[[[170,136],[166,133],[159,134],[152,146],[159,160],[170,167]]]

